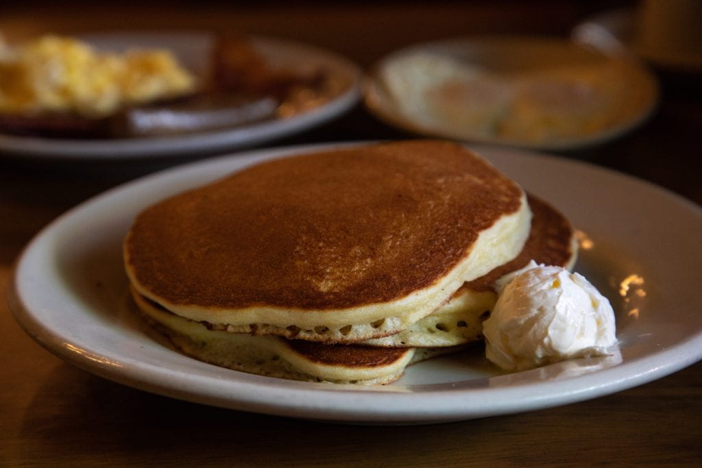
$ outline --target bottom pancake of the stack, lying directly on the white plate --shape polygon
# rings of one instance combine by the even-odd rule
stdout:
[[[324,345],[277,336],[254,336],[208,330],[203,324],[154,307],[132,290],[148,322],[184,354],[241,372],[307,382],[360,385],[388,384],[412,363],[463,347],[378,348]]]

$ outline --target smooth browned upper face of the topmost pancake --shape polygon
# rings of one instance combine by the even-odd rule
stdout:
[[[450,272],[521,194],[450,142],[280,159],[145,210],[126,239],[128,267],[180,305],[386,302]]]

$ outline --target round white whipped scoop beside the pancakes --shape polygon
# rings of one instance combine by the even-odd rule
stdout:
[[[483,323],[487,359],[505,370],[605,356],[616,347],[614,311],[584,276],[536,265],[503,276]]]

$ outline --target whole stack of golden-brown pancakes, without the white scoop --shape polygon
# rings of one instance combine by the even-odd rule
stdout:
[[[124,262],[185,354],[369,384],[480,340],[496,279],[575,251],[569,222],[484,159],[416,140],[260,163],[161,201]]]

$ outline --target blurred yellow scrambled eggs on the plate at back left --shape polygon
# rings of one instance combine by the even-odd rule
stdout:
[[[100,53],[76,39],[44,36],[0,44],[0,112],[72,112],[88,118],[192,93],[195,79],[163,50]]]

